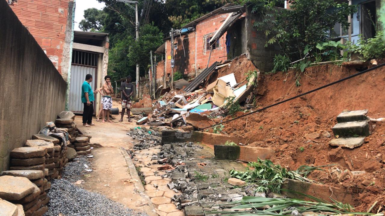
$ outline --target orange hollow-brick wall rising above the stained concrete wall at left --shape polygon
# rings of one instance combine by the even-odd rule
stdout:
[[[18,0],[10,7],[61,74],[69,0]]]

